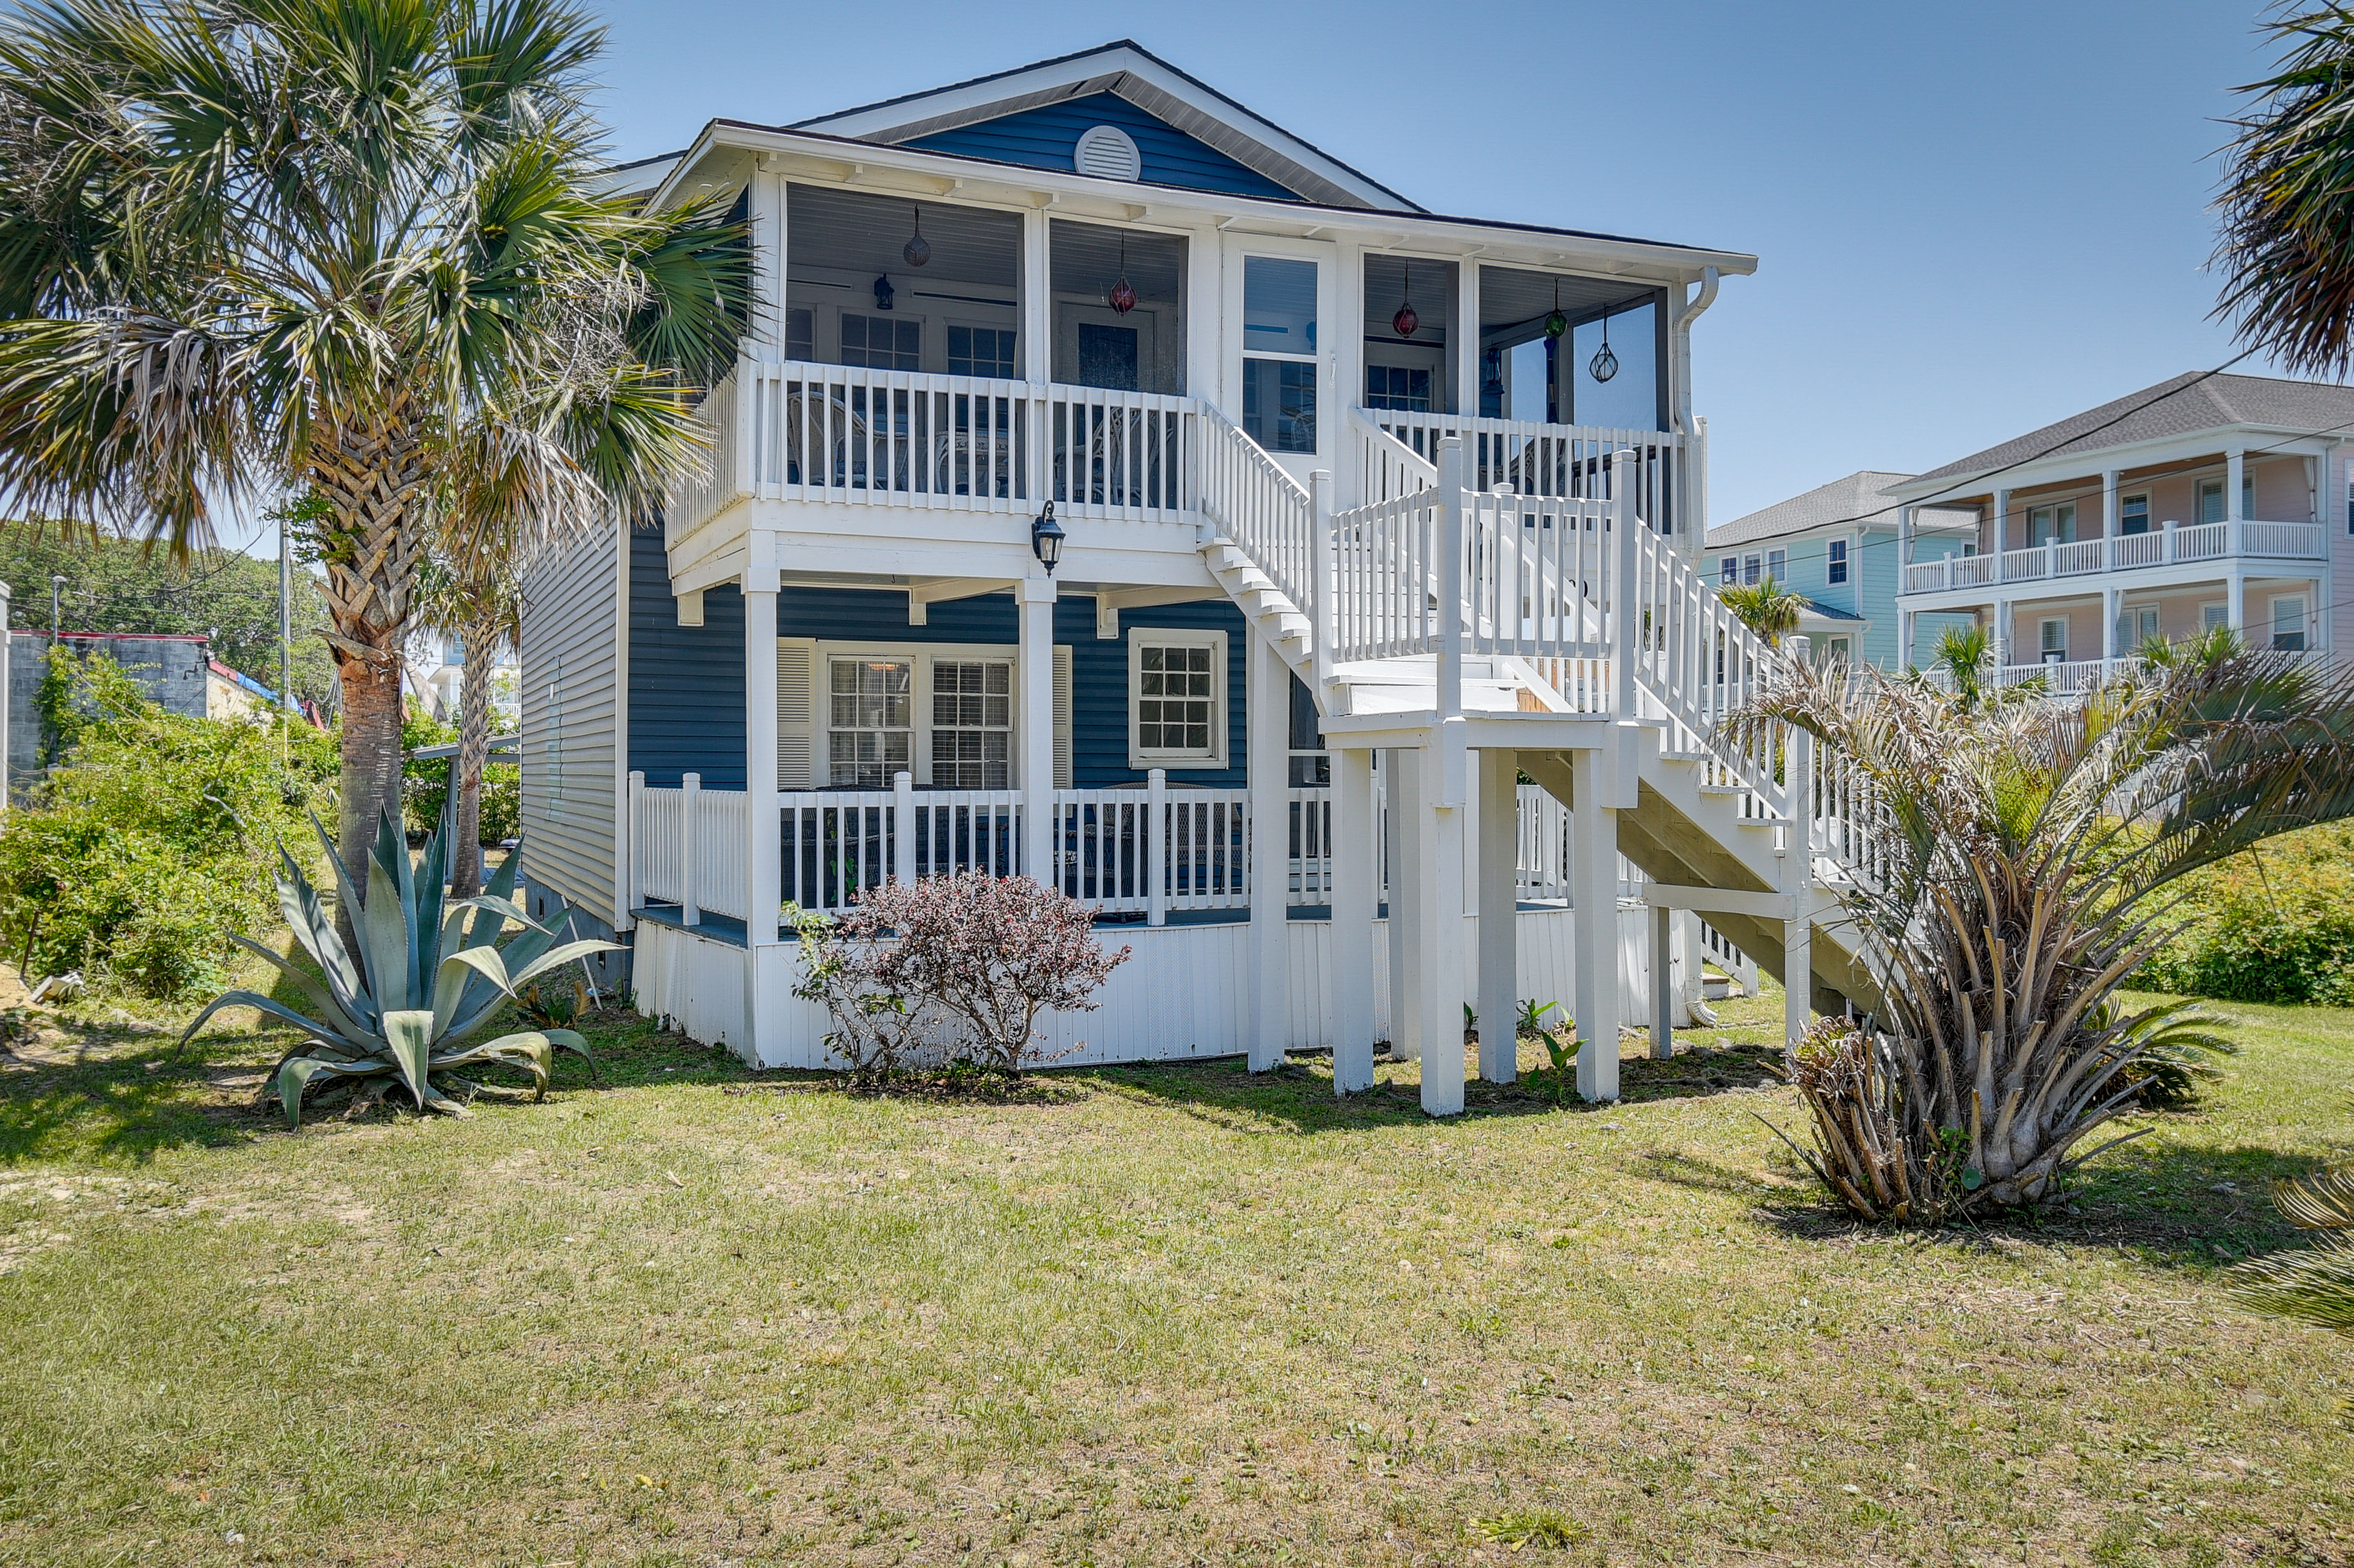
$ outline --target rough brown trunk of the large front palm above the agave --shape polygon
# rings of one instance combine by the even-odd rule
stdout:
[[[308,451],[311,484],[332,508],[322,597],[344,686],[337,839],[360,877],[377,823],[384,813],[400,820],[400,635],[424,552],[412,512],[426,484],[424,433],[410,407],[393,393],[381,414],[322,421]]]

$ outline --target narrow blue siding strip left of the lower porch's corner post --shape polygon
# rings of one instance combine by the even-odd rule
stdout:
[[[629,538],[629,766],[666,790],[680,773],[744,788],[744,595],[713,588],[704,623],[678,625],[661,534],[645,529]]]

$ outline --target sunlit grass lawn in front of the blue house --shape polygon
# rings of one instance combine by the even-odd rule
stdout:
[[[1761,1126],[1780,997],[1452,1124],[614,1018],[603,1086],[297,1138],[282,1034],[87,1023],[0,1053],[0,1561],[2347,1563],[2354,1345],[2220,1274],[2354,1152],[2354,1013],[2222,1011],[2201,1110],[1942,1234]]]

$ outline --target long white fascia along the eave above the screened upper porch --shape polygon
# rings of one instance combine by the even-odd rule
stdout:
[[[873,141],[850,141],[831,134],[786,132],[758,125],[713,120],[678,160],[671,179],[652,195],[652,205],[678,200],[697,167],[723,155],[749,153],[770,158],[786,179],[843,188],[871,186],[892,195],[956,197],[972,205],[1010,209],[1048,209],[1057,216],[1168,228],[1224,228],[1292,237],[1346,237],[1372,249],[1412,249],[1417,254],[1459,254],[1464,259],[1530,266],[1598,270],[1634,282],[1693,282],[1707,268],[1723,275],[1749,275],[1758,259],[1747,252],[1718,252],[1693,244],[1580,235],[1568,230],[1483,223],[1419,212],[1372,212],[1363,207],[1316,207],[1276,202],[1217,190],[1177,186],[1142,186],[1062,169],[920,153]]]

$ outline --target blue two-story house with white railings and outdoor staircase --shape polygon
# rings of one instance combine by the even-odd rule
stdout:
[[[824,1065],[779,903],[960,870],[1132,947],[1071,1060],[1387,1039],[1434,1112],[1464,1004],[1509,1077],[1568,1001],[1608,1098],[1702,943],[1864,992],[1789,853],[1846,797],[1721,724],[1766,654],[1697,571],[1751,256],[1429,212],[1130,42],[617,181],[732,205],[758,289],[709,473],[527,585],[532,907],[640,1009]]]

